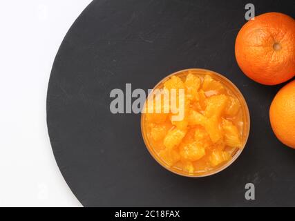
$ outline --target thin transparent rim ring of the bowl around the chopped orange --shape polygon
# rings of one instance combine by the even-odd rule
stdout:
[[[249,133],[250,133],[250,128],[251,128],[251,119],[250,119],[250,113],[249,113],[249,107],[247,104],[247,101],[244,97],[244,95],[242,95],[242,93],[240,92],[240,90],[238,89],[238,87],[227,77],[225,77],[224,75],[220,74],[220,73],[216,73],[213,70],[209,70],[209,69],[204,69],[204,68],[187,68],[187,69],[183,69],[183,70],[178,70],[174,73],[171,73],[170,75],[167,75],[166,77],[160,79],[160,81],[153,87],[153,89],[151,90],[151,92],[149,93],[149,95],[146,97],[146,100],[149,99],[149,96],[153,94],[153,91],[155,90],[155,88],[158,88],[158,86],[160,86],[160,84],[163,83],[163,81],[165,79],[169,79],[169,77],[172,77],[174,75],[179,75],[181,73],[184,72],[188,72],[190,70],[195,70],[195,71],[200,71],[200,72],[204,72],[204,75],[206,75],[206,73],[211,73],[212,75],[216,75],[217,77],[220,77],[222,80],[227,81],[227,83],[232,86],[234,88],[234,90],[236,90],[236,93],[238,93],[240,99],[239,101],[242,102],[242,106],[244,107],[244,112],[245,112],[245,119],[247,119],[247,126],[246,126],[246,131],[243,131],[243,135],[245,134],[245,142],[242,145],[242,148],[238,148],[237,151],[234,153],[234,156],[231,157],[231,160],[229,160],[228,162],[226,162],[225,164],[223,164],[222,166],[218,167],[217,169],[213,169],[212,171],[207,171],[207,172],[202,172],[202,173],[194,173],[193,175],[189,175],[189,174],[184,174],[184,173],[178,173],[178,171],[174,171],[172,170],[172,166],[165,166],[164,162],[160,159],[158,159],[158,157],[156,157],[156,153],[153,153],[153,151],[151,150],[151,146],[148,142],[148,138],[146,137],[146,134],[144,133],[144,113],[141,113],[141,117],[140,117],[140,127],[141,127],[141,133],[142,133],[142,138],[144,140],[144,144],[147,148],[147,150],[149,151],[150,155],[153,157],[153,159],[158,162],[158,164],[160,164],[164,169],[166,169],[167,171],[170,171],[176,175],[181,175],[183,177],[209,177],[211,175],[215,175],[217,173],[220,173],[221,171],[224,171],[225,169],[227,169],[229,166],[231,166],[231,164],[233,164],[238,157],[240,156],[240,154],[242,153],[242,151],[244,151],[245,146],[247,144],[247,141],[249,139]],[[197,73],[200,74],[200,73]],[[231,90],[231,88],[229,88],[229,90]],[[231,91],[232,93],[234,93],[234,91]],[[235,94],[236,95],[236,94]],[[146,104],[146,101],[144,102],[144,104]],[[244,128],[245,129],[245,128]]]

